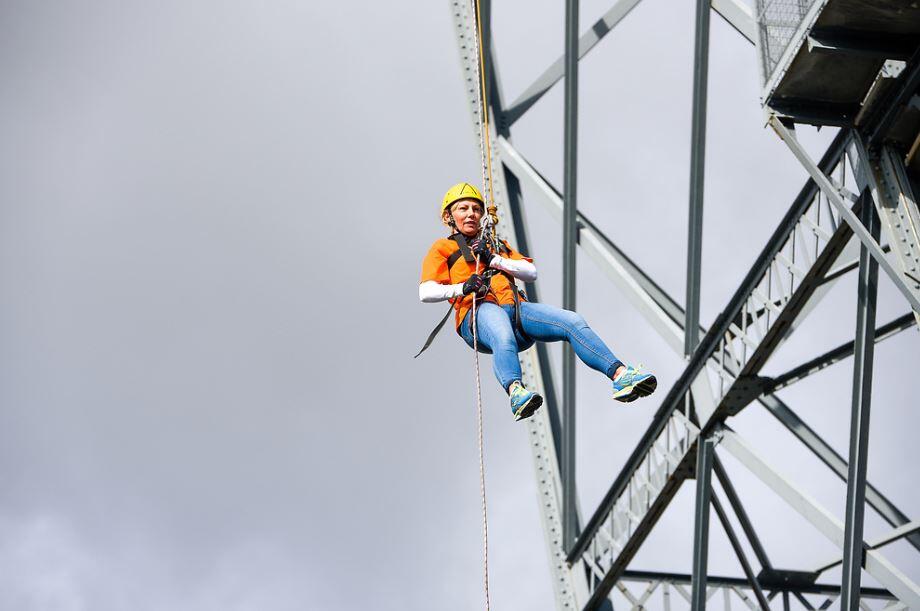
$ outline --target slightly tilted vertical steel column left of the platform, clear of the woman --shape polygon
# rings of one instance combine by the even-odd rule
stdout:
[[[703,249],[703,181],[706,173],[706,89],[709,76],[710,0],[696,0],[693,57],[693,117],[690,135],[690,214],[687,229],[687,311],[684,354],[700,337],[700,260]]]

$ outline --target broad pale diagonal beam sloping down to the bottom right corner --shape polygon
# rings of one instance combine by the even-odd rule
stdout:
[[[843,523],[822,507],[807,492],[769,466],[734,431],[723,431],[721,447],[732,454],[752,474],[770,487],[799,515],[809,521],[818,532],[832,543],[843,548]],[[920,608],[920,586],[895,567],[878,550],[867,550],[865,570],[880,584],[911,608]]]

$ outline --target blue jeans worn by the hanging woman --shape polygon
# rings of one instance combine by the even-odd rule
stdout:
[[[470,329],[472,317],[472,313],[468,313],[460,325],[460,336],[470,348],[473,347],[473,332]],[[569,342],[585,365],[608,378],[612,378],[613,373],[623,364],[576,312],[522,301],[521,326],[527,337],[521,336],[513,318],[513,305],[499,306],[484,302],[476,306],[479,351],[493,355],[492,370],[505,390],[512,382],[521,379],[521,363],[517,353],[530,348],[534,340]]]

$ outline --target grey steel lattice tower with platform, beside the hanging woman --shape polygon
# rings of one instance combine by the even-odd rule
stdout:
[[[920,322],[920,214],[913,178],[920,177],[920,8],[906,0],[697,0],[691,141],[690,221],[686,308],[662,290],[603,231],[578,211],[574,195],[574,112],[577,61],[627,17],[640,0],[617,0],[580,37],[577,0],[567,0],[566,54],[516,100],[506,103],[492,45],[490,3],[481,2],[483,47],[491,113],[494,192],[500,227],[519,250],[529,237],[522,185],[533,204],[566,228],[566,248],[577,243],[644,316],[686,367],[666,392],[645,434],[604,499],[581,520],[574,498],[574,387],[565,371],[560,401],[545,347],[521,355],[524,383],[541,392],[547,408],[528,421],[541,518],[558,609],[611,609],[612,596],[634,609],[660,600],[661,608],[707,601],[751,609],[920,609],[920,586],[882,549],[907,541],[920,552],[920,521],[911,520],[866,481],[874,345]],[[475,13],[469,0],[450,0],[474,129],[480,112]],[[707,328],[699,321],[700,243],[705,160],[709,18],[717,12],[755,46],[769,124],[807,170],[799,191],[749,272]],[[844,24],[844,25],[841,25]],[[577,33],[576,33],[577,34]],[[513,144],[514,123],[560,80],[566,81],[566,187],[553,186]],[[813,160],[796,139],[796,125],[840,127],[824,155]],[[479,135],[479,134],[477,134]],[[846,260],[852,245],[858,260]],[[574,257],[564,261],[574,278]],[[876,326],[879,269],[905,301],[903,316]],[[858,274],[853,341],[816,355],[776,376],[761,369],[841,277]],[[566,283],[568,287],[569,284]],[[574,286],[572,284],[571,286]],[[528,285],[536,298],[537,287]],[[568,289],[567,289],[568,290]],[[564,300],[565,300],[564,295]],[[854,358],[849,456],[843,457],[805,424],[776,391],[844,358]],[[564,357],[568,358],[568,357]],[[759,403],[847,483],[843,519],[803,487],[776,471],[727,421]],[[716,451],[718,448],[718,452]],[[719,454],[732,455],[749,474],[840,548],[821,567],[774,567]],[[712,486],[712,475],[721,493]],[[634,570],[630,562],[681,485],[695,480],[694,557],[688,574]],[[723,496],[724,495],[724,496]],[[891,525],[863,540],[866,508]],[[707,572],[710,508],[737,555],[743,578]],[[741,525],[735,532],[729,512]],[[748,558],[741,537],[755,558]],[[756,563],[756,564],[755,564]],[[760,570],[755,571],[759,565]],[[841,583],[821,582],[842,565]],[[881,584],[864,587],[861,570]]]

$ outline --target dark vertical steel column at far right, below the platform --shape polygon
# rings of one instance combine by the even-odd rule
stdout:
[[[860,211],[873,238],[879,238],[879,219],[868,192]],[[872,360],[875,352],[875,303],[878,262],[865,246],[859,249],[859,285],[856,303],[856,340],[853,360],[853,409],[850,419],[850,461],[847,471],[846,524],[843,534],[843,574],[840,608],[859,608],[863,564],[863,517],[866,507],[866,460],[869,446],[869,407],[872,399]]]

